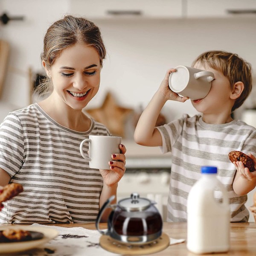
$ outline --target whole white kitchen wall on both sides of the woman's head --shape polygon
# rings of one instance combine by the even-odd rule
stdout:
[[[0,120],[8,111],[29,102],[29,66],[41,69],[40,53],[47,27],[68,10],[68,0],[0,0],[0,11],[22,15],[24,21],[0,25],[0,38],[11,44],[9,69],[0,98]],[[83,15],[83,13],[81,13]],[[256,18],[94,20],[101,28],[108,56],[101,89],[88,105],[102,104],[110,90],[128,108],[145,105],[157,90],[166,70],[190,65],[201,52],[223,49],[236,52],[256,67]],[[21,72],[17,72],[17,69]],[[196,113],[190,102],[167,102],[168,120]]]

